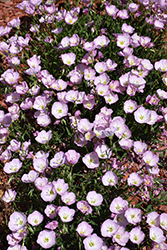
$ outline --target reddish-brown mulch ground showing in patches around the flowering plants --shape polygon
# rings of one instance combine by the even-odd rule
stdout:
[[[28,20],[28,15],[25,14],[22,10],[19,10],[16,8],[16,5],[21,3],[22,0],[0,0],[0,27],[6,26],[8,22],[10,22],[12,19],[20,17],[21,22],[24,23]],[[63,6],[64,1],[58,0],[56,1],[56,7]],[[0,107],[3,106],[3,108],[7,109],[7,105],[4,101],[3,95],[0,93]],[[163,142],[163,145],[156,145],[157,149],[159,151],[166,150],[167,154],[167,140],[165,137],[161,137],[160,141]],[[134,166],[132,166],[130,173],[132,171],[135,171]],[[160,175],[164,178],[167,177],[167,173],[161,173]],[[126,177],[125,177],[126,178]],[[127,176],[128,178],[128,176]],[[7,223],[9,221],[9,216],[12,213],[12,204],[11,203],[5,203],[2,201],[1,197],[4,194],[4,192],[11,188],[10,184],[8,184],[9,176],[3,171],[2,164],[0,164],[0,249],[6,249],[7,248],[7,241],[5,240],[5,237],[8,233],[10,233],[10,230],[7,227]],[[129,197],[129,201],[133,197]],[[136,197],[137,199],[137,197]],[[133,204],[135,205],[135,202],[138,202],[137,200],[133,200]],[[167,213],[167,205],[161,205],[157,208],[157,211],[160,213],[166,212]],[[144,248],[144,250],[149,250],[150,248]]]

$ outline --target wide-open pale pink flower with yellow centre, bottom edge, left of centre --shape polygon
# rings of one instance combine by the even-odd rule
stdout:
[[[38,234],[37,243],[44,249],[56,244],[56,233],[50,230],[43,230]]]

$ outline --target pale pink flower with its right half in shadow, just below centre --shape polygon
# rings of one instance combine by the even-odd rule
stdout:
[[[82,161],[87,166],[87,168],[94,169],[99,167],[99,157],[94,151],[89,154],[86,154],[82,158]]]

